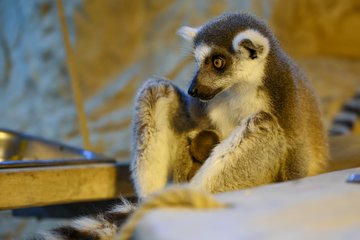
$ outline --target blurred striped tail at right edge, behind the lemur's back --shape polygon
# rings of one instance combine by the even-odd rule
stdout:
[[[360,89],[346,102],[340,113],[335,117],[329,130],[331,136],[346,135],[353,131],[360,118]]]

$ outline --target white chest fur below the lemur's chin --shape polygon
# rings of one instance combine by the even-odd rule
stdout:
[[[254,86],[234,86],[209,102],[211,122],[224,139],[239,126],[241,120],[268,109],[264,93]]]

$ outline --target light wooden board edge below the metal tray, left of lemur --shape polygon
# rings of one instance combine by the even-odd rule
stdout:
[[[126,164],[0,170],[0,210],[132,196]]]

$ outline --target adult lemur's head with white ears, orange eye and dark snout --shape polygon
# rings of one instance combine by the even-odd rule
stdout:
[[[231,13],[198,28],[181,27],[178,34],[194,46],[191,96],[208,101],[235,84],[260,84],[272,36],[262,21]]]

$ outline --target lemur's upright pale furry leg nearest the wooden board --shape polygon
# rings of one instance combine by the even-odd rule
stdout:
[[[140,198],[164,188],[172,176],[178,146],[183,144],[183,130],[176,124],[188,122],[182,112],[186,97],[163,79],[148,80],[137,94],[131,171]]]

